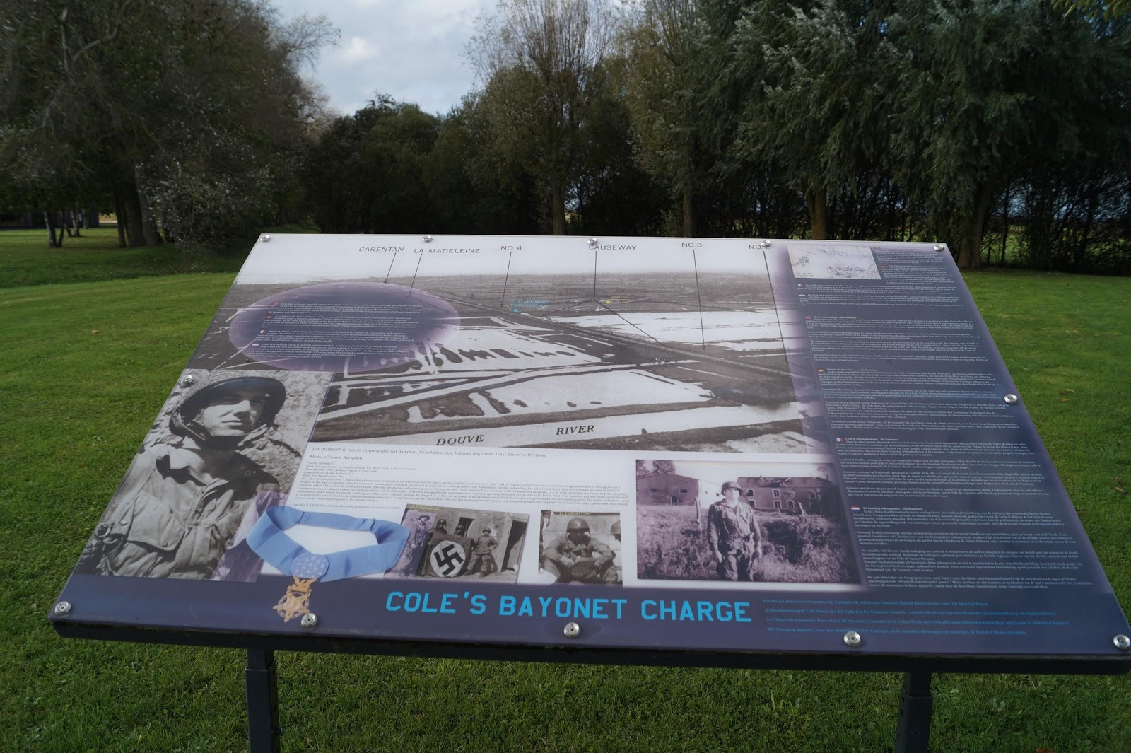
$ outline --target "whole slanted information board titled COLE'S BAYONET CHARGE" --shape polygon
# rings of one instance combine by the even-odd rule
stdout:
[[[262,236],[68,626],[1082,657],[1129,634],[930,244]]]

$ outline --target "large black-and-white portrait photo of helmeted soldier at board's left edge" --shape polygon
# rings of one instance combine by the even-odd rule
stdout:
[[[216,575],[261,512],[254,500],[290,490],[328,381],[314,372],[185,371],[76,572]]]

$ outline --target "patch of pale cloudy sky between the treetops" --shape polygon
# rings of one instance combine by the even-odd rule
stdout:
[[[495,0],[274,0],[283,20],[326,14],[342,32],[337,47],[322,51],[313,78],[343,114],[389,94],[443,114],[459,104],[474,72],[464,47],[480,14]]]

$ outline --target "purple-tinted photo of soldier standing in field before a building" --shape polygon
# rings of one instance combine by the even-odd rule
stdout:
[[[831,462],[637,460],[642,580],[858,581]]]

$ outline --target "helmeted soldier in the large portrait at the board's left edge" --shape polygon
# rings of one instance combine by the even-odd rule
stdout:
[[[285,400],[270,376],[206,379],[170,416],[171,438],[133,459],[77,570],[210,578],[256,495],[278,490],[238,450],[274,425]]]

